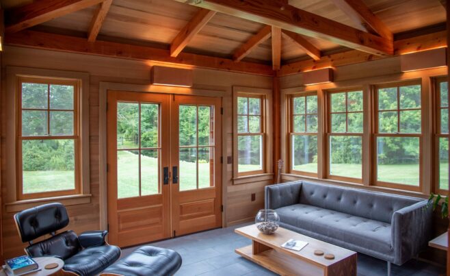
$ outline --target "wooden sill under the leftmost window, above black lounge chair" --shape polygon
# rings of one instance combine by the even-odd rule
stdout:
[[[59,202],[66,206],[86,204],[91,202],[91,194],[88,195],[67,195],[62,197],[46,197],[42,199],[25,199],[20,201],[14,201],[5,203],[6,212],[20,212],[22,210],[33,208],[38,205],[51,202]]]

